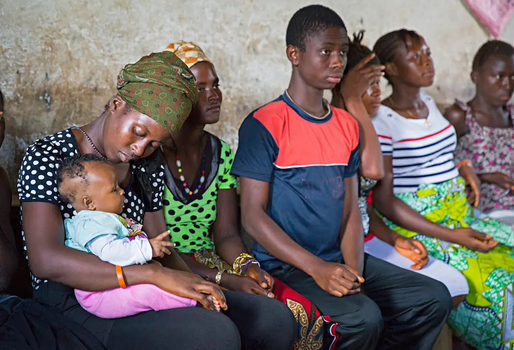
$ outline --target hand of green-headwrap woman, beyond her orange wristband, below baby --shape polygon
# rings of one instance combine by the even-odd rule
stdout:
[[[181,297],[194,299],[207,309],[218,310],[216,304],[219,304],[219,307],[224,310],[227,309],[225,296],[221,288],[216,284],[208,282],[198,275],[160,267],[155,263],[150,264],[149,267],[155,271],[154,278],[152,279],[155,281],[153,284],[162,290]]]

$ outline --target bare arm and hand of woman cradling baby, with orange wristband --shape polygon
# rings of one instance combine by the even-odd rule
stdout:
[[[41,202],[22,204],[23,230],[32,273],[40,279],[89,291],[119,287],[116,268],[93,254],[64,245],[64,225],[56,205]],[[199,276],[158,264],[123,267],[127,285],[149,283],[178,296],[193,298],[211,307],[206,294],[226,308],[225,297],[213,283]]]

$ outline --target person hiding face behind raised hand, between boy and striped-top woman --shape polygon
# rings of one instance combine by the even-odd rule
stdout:
[[[354,118],[359,121],[360,142],[369,149],[366,154],[361,151],[361,160],[366,158],[368,163],[361,163],[359,168],[358,204],[364,231],[364,251],[375,258],[408,270],[412,269],[421,275],[444,283],[453,298],[453,306],[456,307],[464,300],[469,291],[464,275],[455,267],[428,257],[423,243],[403,237],[390,229],[373,211],[373,205],[368,205],[368,201],[371,201],[370,192],[378,180],[383,178],[382,152],[370,119],[370,116],[375,115],[380,108],[381,94],[382,71],[379,70],[379,74],[373,74],[373,70],[383,66],[380,65],[376,56],[373,57],[373,52],[361,44],[363,35],[363,31],[354,34],[354,40],[350,42],[344,78],[342,83],[336,85],[332,90],[331,104],[335,107],[345,108],[354,115]],[[371,152],[371,150],[374,151]],[[373,166],[369,166],[369,164],[374,159],[381,169],[379,177],[370,172],[370,168],[373,169]],[[400,200],[398,202],[399,205],[407,206]]]

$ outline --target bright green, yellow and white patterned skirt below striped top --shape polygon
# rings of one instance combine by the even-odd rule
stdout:
[[[502,345],[510,348],[514,340],[514,249],[509,247],[514,242],[512,228],[484,215],[474,215],[462,191],[440,191],[438,199],[433,201],[430,198],[412,195],[398,197],[413,208],[423,206],[424,216],[442,226],[469,226],[501,242],[483,254],[457,244],[418,235],[416,232],[388,223],[401,235],[423,242],[431,256],[457,268],[466,277],[470,293],[466,300],[452,311],[448,320],[457,335],[465,338],[479,350],[500,348]],[[416,199],[424,204],[415,203]],[[440,203],[443,203],[443,207],[439,207]],[[431,206],[433,210],[430,210]]]

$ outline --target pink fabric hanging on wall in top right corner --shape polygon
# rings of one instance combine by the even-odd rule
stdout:
[[[514,0],[464,0],[476,19],[497,38],[514,12]]]

